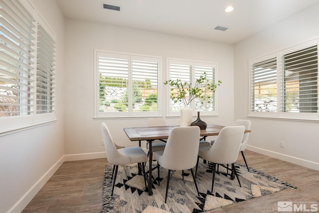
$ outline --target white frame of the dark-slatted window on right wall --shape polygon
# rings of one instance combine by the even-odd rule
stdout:
[[[307,42],[296,44],[292,47],[288,47],[282,50],[278,50],[274,53],[270,53],[265,56],[261,56],[258,58],[254,58],[249,60],[249,112],[248,115],[251,117],[262,117],[262,118],[274,118],[274,119],[287,119],[287,120],[310,120],[310,121],[319,121],[319,109],[316,113],[306,113],[306,112],[284,112],[282,110],[282,106],[284,100],[282,99],[282,91],[283,91],[283,56],[288,53],[292,53],[295,51],[299,51],[311,46],[317,45],[319,49],[319,38],[309,40]],[[261,61],[265,61],[271,58],[277,58],[277,111],[276,112],[257,112],[253,111],[253,64],[256,64]],[[319,61],[319,51],[317,54],[317,60]],[[317,71],[318,72],[318,71]],[[319,72],[318,72],[319,73]],[[319,74],[317,73],[317,80],[319,80]],[[319,94],[319,87],[317,88]],[[319,98],[319,97],[318,97]],[[319,104],[319,101],[318,101]]]

